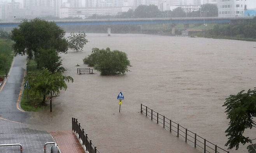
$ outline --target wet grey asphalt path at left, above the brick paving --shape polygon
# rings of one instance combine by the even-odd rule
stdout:
[[[26,68],[26,57],[16,56],[11,73],[2,91],[0,91],[0,117],[15,122],[25,122],[29,117],[27,112],[16,108],[16,103],[21,90],[21,83]]]

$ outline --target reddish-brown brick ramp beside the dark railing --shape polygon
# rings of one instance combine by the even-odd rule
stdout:
[[[62,153],[84,153],[75,134],[70,131],[50,132]]]

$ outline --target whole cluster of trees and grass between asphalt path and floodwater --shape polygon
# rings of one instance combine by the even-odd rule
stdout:
[[[56,23],[42,19],[23,20],[12,30],[14,53],[28,56],[25,81],[30,84],[30,89],[23,92],[21,107],[24,110],[40,110],[46,106],[47,97],[66,90],[67,82],[74,81],[64,75],[66,70],[59,54],[66,54],[68,48],[81,50],[88,40],[85,33],[71,35],[70,39],[64,36],[65,31]],[[74,44],[71,46],[69,41]]]

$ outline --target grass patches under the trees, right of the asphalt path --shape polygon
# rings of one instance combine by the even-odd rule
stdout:
[[[35,83],[33,78],[40,73],[40,70],[37,69],[37,63],[34,60],[30,60],[27,62],[27,73],[25,77],[25,81],[28,81],[30,85]],[[28,97],[28,98],[27,98]],[[25,111],[39,111],[47,106],[40,105],[40,101],[42,101],[42,96],[38,93],[32,91],[32,89],[24,89],[23,94],[21,96],[21,108]]]

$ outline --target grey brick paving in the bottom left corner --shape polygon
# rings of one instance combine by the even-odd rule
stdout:
[[[24,123],[0,120],[0,144],[20,143],[23,153],[43,153],[46,142],[54,142],[51,134],[46,131],[30,129]],[[19,153],[19,147],[0,147],[0,153]]]

